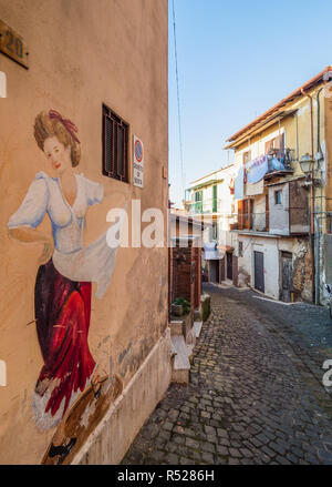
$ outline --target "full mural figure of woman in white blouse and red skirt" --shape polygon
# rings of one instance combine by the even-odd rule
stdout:
[[[49,456],[68,455],[75,438],[65,437],[70,407],[92,385],[95,398],[105,376],[89,348],[91,282],[96,296],[107,288],[116,248],[106,234],[83,247],[89,206],[101,203],[103,185],[75,174],[81,159],[77,129],[54,110],[35,118],[34,138],[56,177],[39,172],[10,217],[10,235],[21,242],[44,244],[35,282],[35,322],[44,365],[38,378],[33,410],[40,428],[59,426]],[[52,236],[37,230],[45,214]]]

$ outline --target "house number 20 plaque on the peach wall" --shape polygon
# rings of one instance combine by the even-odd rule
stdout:
[[[24,68],[29,68],[29,52],[23,38],[7,26],[7,23],[2,22],[2,20],[0,20],[0,52],[3,52],[3,54],[13,59]]]

